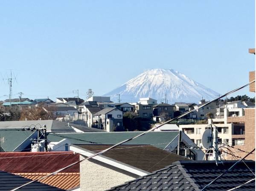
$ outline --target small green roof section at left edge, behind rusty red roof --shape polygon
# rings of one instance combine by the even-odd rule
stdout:
[[[35,133],[35,131],[23,131],[21,129],[0,129],[1,148],[3,148],[3,150],[6,152],[13,151],[33,133]]]

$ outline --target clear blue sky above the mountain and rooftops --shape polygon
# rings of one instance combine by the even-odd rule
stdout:
[[[102,95],[151,68],[225,93],[254,69],[254,28],[254,0],[1,1],[1,73],[14,97]]]

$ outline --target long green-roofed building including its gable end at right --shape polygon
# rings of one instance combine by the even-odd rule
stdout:
[[[139,135],[142,132],[105,132],[105,133],[49,133],[47,139],[51,142],[60,142],[64,138],[61,136],[70,137],[68,139],[71,144],[88,144],[86,141],[90,140],[94,143],[115,145],[123,140],[130,139]],[[176,152],[178,146],[179,131],[152,131],[137,139],[133,139],[123,145],[153,145],[160,149],[165,149],[169,152]],[[181,155],[191,159],[201,160],[204,157],[204,152],[195,145],[195,143],[189,139],[183,132],[181,132],[181,141],[183,148]],[[190,150],[189,150],[190,149]],[[191,153],[190,153],[191,151]]]

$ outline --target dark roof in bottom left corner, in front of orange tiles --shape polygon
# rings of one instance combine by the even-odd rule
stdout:
[[[17,176],[5,171],[0,171],[0,190],[1,191],[10,191],[14,188],[17,188],[27,182],[30,182],[31,179]],[[19,190],[23,191],[64,191],[61,188],[56,188],[38,181],[35,181],[29,185],[20,188]]]

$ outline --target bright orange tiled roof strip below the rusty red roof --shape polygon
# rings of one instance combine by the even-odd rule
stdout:
[[[16,175],[28,178],[28,179],[38,179],[48,175],[49,173],[15,173]],[[65,172],[65,173],[57,173],[52,176],[49,176],[45,179],[40,180],[44,184],[52,185],[57,188],[61,188],[64,190],[75,188],[80,184],[80,174]]]

